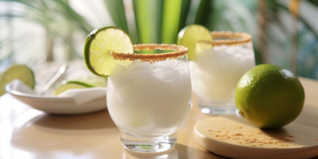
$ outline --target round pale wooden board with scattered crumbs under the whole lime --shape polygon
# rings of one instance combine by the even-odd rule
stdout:
[[[194,127],[197,142],[215,154],[242,159],[302,159],[318,156],[318,128],[291,123],[264,130],[242,117],[211,117]]]

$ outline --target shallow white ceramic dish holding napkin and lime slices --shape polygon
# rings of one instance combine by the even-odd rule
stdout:
[[[40,96],[38,94],[25,93],[15,89],[16,83],[7,84],[5,90],[14,98],[24,102],[25,104],[50,114],[85,114],[100,111],[107,108],[106,93],[107,89],[103,88],[96,91],[104,91],[105,95],[91,98],[86,102],[76,102],[74,97],[50,97]],[[88,88],[84,88],[88,89]],[[95,91],[91,90],[91,92]]]

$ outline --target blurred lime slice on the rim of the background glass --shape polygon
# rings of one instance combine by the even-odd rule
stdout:
[[[184,27],[178,34],[177,44],[188,48],[188,58],[196,59],[196,43],[212,40],[210,31],[202,25],[192,24]]]

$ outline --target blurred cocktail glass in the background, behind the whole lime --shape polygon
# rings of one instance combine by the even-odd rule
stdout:
[[[252,36],[226,31],[213,31],[211,35],[212,41],[197,42],[196,60],[190,61],[193,92],[201,112],[237,114],[236,84],[255,66]]]

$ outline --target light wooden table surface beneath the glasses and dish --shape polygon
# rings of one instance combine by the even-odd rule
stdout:
[[[294,122],[318,128],[318,81],[300,79],[306,100],[301,115]],[[158,154],[138,154],[124,150],[119,130],[107,111],[71,116],[49,115],[5,94],[0,98],[0,118],[1,159],[223,158],[203,149],[194,139],[195,123],[211,118],[199,112],[196,98],[189,118],[178,131],[175,148]]]

